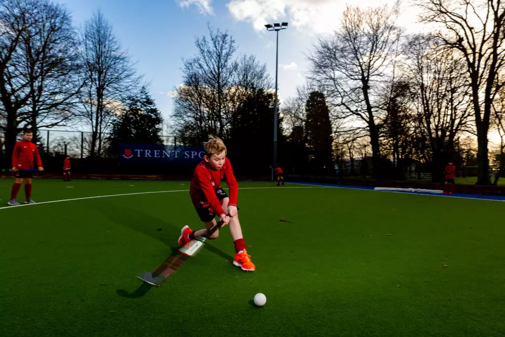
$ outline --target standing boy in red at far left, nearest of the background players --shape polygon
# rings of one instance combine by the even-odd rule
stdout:
[[[27,170],[33,169],[33,160],[36,161],[39,171],[43,171],[44,169],[42,168],[42,161],[40,160],[37,146],[31,142],[32,138],[33,132],[25,130],[23,140],[16,143],[12,153],[12,171],[15,172],[14,177],[16,181],[12,185],[11,199],[8,202],[11,206],[19,205],[16,198],[23,182],[25,183],[25,204],[35,204],[31,199],[31,178],[33,173]]]

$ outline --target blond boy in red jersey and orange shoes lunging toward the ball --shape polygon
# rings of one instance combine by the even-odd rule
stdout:
[[[216,215],[224,224],[229,224],[235,245],[233,265],[245,271],[255,271],[256,266],[252,263],[250,255],[247,254],[242,229],[238,221],[238,183],[233,175],[230,161],[226,158],[226,146],[221,139],[211,136],[209,141],[204,144],[204,150],[204,160],[196,166],[191,179],[189,194],[193,206],[207,229],[216,225]],[[221,187],[223,178],[230,188],[230,197]],[[194,231],[188,226],[184,226],[181,229],[179,246],[182,247],[195,238],[201,238],[207,234],[207,229]],[[215,239],[218,235],[219,230],[216,230],[208,238]]]

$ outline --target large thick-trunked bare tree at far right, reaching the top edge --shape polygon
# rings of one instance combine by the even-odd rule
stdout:
[[[489,184],[488,132],[491,105],[503,82],[505,3],[501,0],[418,0],[423,22],[438,23],[433,36],[466,63],[478,141],[479,184]]]

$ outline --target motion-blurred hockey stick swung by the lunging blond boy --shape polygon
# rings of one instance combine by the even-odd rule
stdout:
[[[170,275],[179,270],[190,256],[195,255],[196,252],[204,246],[207,237],[211,236],[218,228],[223,227],[223,223],[223,221],[219,221],[200,239],[192,240],[179,248],[177,254],[169,256],[154,272],[150,273],[146,271],[141,275],[137,275],[137,278],[151,285],[159,285]]]

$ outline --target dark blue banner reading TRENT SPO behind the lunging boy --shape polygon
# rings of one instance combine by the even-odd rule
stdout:
[[[121,144],[122,164],[198,164],[204,159],[203,146]]]

